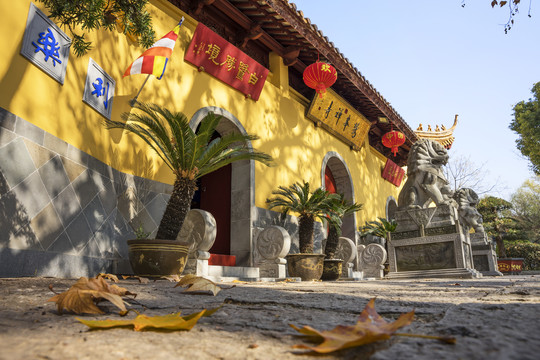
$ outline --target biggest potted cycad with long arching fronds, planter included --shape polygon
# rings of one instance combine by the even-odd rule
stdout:
[[[211,112],[195,133],[181,112],[139,102],[134,107],[138,111],[122,114],[124,121],[105,120],[105,127],[144,140],[171,169],[175,181],[156,238],[128,240],[130,263],[138,275],[180,275],[189,244],[176,239],[190,210],[197,179],[234,161],[250,159],[269,165],[272,158],[247,146],[248,141],[258,139],[255,135],[232,133],[212,140],[221,117]]]

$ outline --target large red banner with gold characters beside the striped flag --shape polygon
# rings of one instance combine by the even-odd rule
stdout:
[[[204,26],[197,25],[184,59],[258,100],[268,69]]]

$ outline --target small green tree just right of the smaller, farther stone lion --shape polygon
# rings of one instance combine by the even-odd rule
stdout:
[[[488,236],[497,242],[497,255],[506,257],[503,239],[522,239],[523,233],[512,214],[512,204],[504,199],[486,196],[480,199],[478,211],[484,220],[484,229]]]

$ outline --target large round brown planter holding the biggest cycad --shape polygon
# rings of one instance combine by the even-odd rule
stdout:
[[[181,275],[187,262],[189,244],[176,240],[128,240],[131,269],[138,276]]]

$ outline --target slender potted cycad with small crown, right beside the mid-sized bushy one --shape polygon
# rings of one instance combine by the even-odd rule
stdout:
[[[343,194],[339,194],[330,203],[330,208],[327,210],[335,214],[334,221],[328,222],[328,236],[326,237],[326,245],[324,247],[324,267],[321,279],[326,281],[337,280],[341,276],[343,267],[343,259],[337,259],[336,250],[341,236],[342,219],[350,214],[362,209],[362,204],[351,203],[345,199]],[[339,220],[339,221],[335,221]]]

